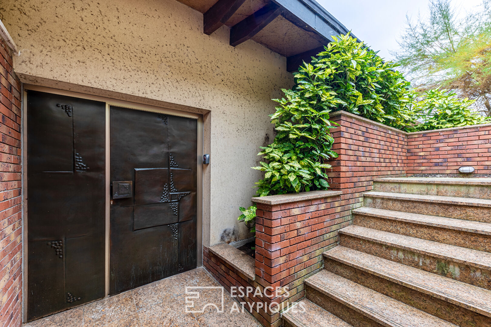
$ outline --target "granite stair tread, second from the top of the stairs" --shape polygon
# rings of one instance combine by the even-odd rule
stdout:
[[[376,191],[366,192],[363,194],[363,196],[372,197],[372,198],[400,199],[400,200],[408,200],[408,201],[424,201],[424,202],[435,202],[435,203],[449,203],[449,204],[491,207],[490,199],[444,197],[439,195],[421,195],[421,194],[376,192]]]

